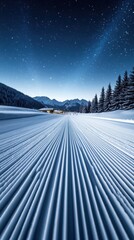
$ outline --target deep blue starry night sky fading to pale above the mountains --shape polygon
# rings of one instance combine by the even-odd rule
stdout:
[[[133,0],[1,0],[0,82],[91,100],[134,65]]]

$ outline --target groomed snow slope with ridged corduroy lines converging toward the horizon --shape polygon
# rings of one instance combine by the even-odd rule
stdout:
[[[1,240],[133,239],[133,156],[133,123],[1,120]]]

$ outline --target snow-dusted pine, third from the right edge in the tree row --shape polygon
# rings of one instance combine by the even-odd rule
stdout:
[[[114,87],[113,95],[112,95],[112,101],[111,101],[111,110],[117,110],[119,109],[120,104],[120,94],[121,94],[121,75],[118,76],[118,79],[116,81],[116,85]]]

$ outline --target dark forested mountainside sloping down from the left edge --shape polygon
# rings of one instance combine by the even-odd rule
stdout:
[[[44,107],[42,103],[35,99],[0,83],[0,105],[25,107],[39,109]]]

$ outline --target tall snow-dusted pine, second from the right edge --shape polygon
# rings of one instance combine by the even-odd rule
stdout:
[[[128,73],[125,71],[124,78],[121,83],[121,93],[120,93],[120,109],[125,109],[125,99],[127,94],[127,86],[128,86]]]

